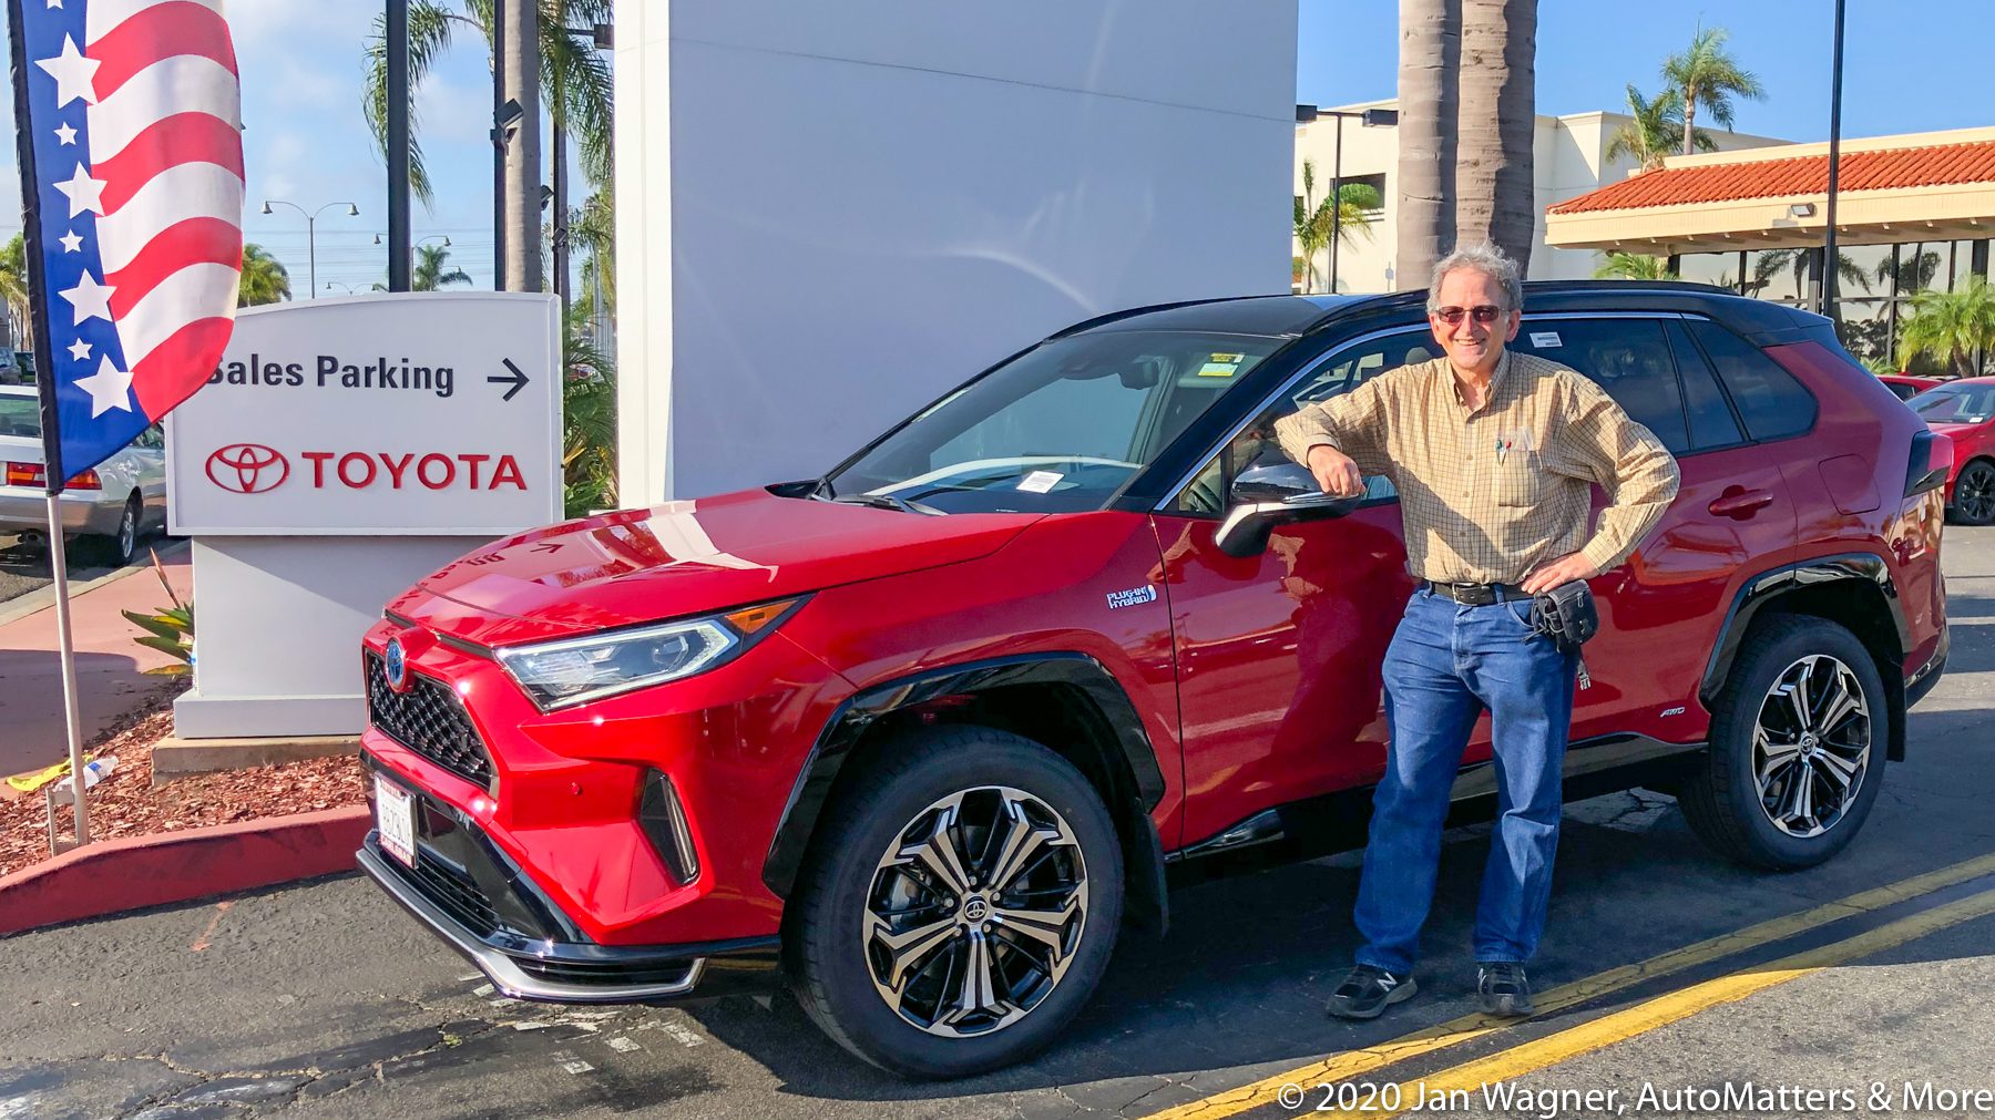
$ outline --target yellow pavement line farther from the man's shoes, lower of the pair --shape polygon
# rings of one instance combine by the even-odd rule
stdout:
[[[1738,1002],[1756,992],[1786,984],[1788,980],[1813,977],[1815,973],[1823,973],[1835,965],[1871,957],[1875,953],[1883,953],[1885,949],[1895,949],[1907,941],[1917,941],[1947,927],[1991,913],[1995,913],[1995,891],[1969,895],[1943,907],[1933,907],[1925,913],[1859,933],[1847,941],[1835,941],[1819,949],[1796,953],[1794,957],[1784,957],[1772,965],[1740,969],[1738,973],[1704,980],[1702,984],[1692,984],[1666,996],[1656,996],[1648,1002],[1604,1014],[1592,1022],[1560,1030],[1558,1034],[1546,1034],[1534,1042],[1512,1046],[1510,1050],[1490,1054],[1488,1058],[1478,1058],[1474,1062],[1440,1070],[1432,1076],[1404,1082],[1398,1086],[1396,1096],[1393,1096],[1391,1088],[1381,1090],[1381,1096],[1402,1102],[1400,1108],[1373,1108],[1365,1112],[1331,1110],[1329,1114],[1389,1120],[1391,1116],[1400,1116],[1402,1112],[1416,1108],[1422,1098],[1430,1100],[1436,1094],[1468,1092],[1470,1098],[1476,1098],[1486,1084],[1518,1078],[1582,1054],[1592,1054],[1594,1050],[1604,1050],[1606,1046],[1626,1042],[1628,1038],[1646,1034],[1658,1026],[1690,1018],[1700,1010]]]

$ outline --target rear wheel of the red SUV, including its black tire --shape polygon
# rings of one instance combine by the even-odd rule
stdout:
[[[1821,618],[1766,618],[1732,662],[1710,761],[1678,803],[1718,855],[1768,871],[1813,867],[1869,817],[1899,717],[1855,634]]]

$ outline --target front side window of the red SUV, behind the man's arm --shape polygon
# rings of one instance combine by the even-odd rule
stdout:
[[[1289,417],[1303,405],[1351,393],[1359,385],[1402,365],[1432,361],[1438,357],[1438,351],[1440,347],[1426,327],[1408,327],[1406,331],[1379,335],[1331,353],[1329,359],[1317,363],[1301,381],[1283,389],[1281,397],[1263,409],[1221,452],[1207,458],[1197,474],[1191,476],[1191,482],[1179,490],[1169,506],[1171,512],[1221,516],[1227,510],[1227,490],[1233,488],[1233,478],[1241,470],[1289,462],[1289,456],[1275,440],[1275,420]],[[1391,478],[1375,474],[1365,480],[1367,502],[1396,496],[1398,490],[1393,488]]]

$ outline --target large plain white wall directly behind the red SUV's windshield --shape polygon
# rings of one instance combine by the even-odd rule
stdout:
[[[818,474],[1103,311],[1285,289],[1295,0],[616,20],[626,504]]]

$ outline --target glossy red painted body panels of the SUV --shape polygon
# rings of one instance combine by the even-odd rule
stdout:
[[[1758,578],[1815,558],[1885,560],[1905,672],[1945,630],[1941,506],[1905,498],[1923,424],[1819,343],[1766,353],[1819,401],[1809,432],[1682,458],[1682,490],[1620,568],[1592,580],[1574,739],[1698,743],[1700,698],[1732,606]],[[1957,458],[1961,458],[1957,454]],[[740,490],[525,532],[465,556],[387,606],[365,636],[445,684],[491,749],[491,787],[379,727],[363,749],[483,829],[604,947],[768,937],[778,823],[840,703],[920,670],[1033,652],[1085,654],[1129,698],[1161,765],[1149,817],[1165,851],[1255,813],[1377,781],[1379,664],[1412,580],[1396,504],[1291,524],[1257,556],[1215,546],[1217,520],[1167,512],[908,512]],[[1105,610],[1161,590],[1163,610]],[[666,686],[541,711],[493,648],[802,598],[740,658]],[[1147,602],[1147,600],[1145,600]],[[1488,757],[1488,721],[1468,761]],[[632,805],[656,767],[676,785],[700,875],[676,885]]]

